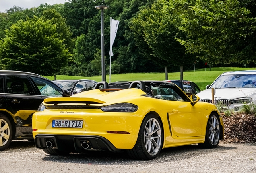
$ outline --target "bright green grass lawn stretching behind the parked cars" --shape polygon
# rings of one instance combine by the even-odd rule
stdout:
[[[206,89],[206,85],[211,84],[220,74],[228,71],[238,70],[256,70],[256,68],[239,68],[239,67],[218,67],[198,69],[196,71],[184,72],[183,79],[195,82],[201,90]],[[44,76],[50,80],[54,80],[54,76]],[[81,76],[64,76],[57,75],[57,80],[65,79],[91,79],[97,82],[101,81],[101,76],[81,77]],[[168,73],[168,79],[180,79],[180,72]],[[127,73],[127,74],[112,74],[111,82],[116,81],[134,81],[134,80],[165,80],[165,73]],[[109,82],[109,75],[107,75]]]

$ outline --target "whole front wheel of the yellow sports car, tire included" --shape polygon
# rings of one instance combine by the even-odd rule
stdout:
[[[204,143],[198,143],[201,148],[216,148],[220,140],[220,120],[219,115],[211,113],[207,126]]]

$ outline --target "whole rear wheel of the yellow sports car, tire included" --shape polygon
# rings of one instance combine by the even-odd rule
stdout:
[[[136,144],[133,149],[127,150],[127,153],[132,159],[151,160],[159,155],[162,146],[163,128],[159,119],[150,114],[143,119]]]

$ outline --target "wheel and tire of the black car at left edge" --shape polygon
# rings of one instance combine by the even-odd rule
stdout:
[[[9,147],[12,135],[12,123],[5,115],[0,114],[0,151]]]

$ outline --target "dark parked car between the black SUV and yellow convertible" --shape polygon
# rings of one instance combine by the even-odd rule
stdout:
[[[55,84],[64,90],[68,90],[71,95],[91,90],[97,82],[95,80],[80,79],[80,80],[53,80]]]

